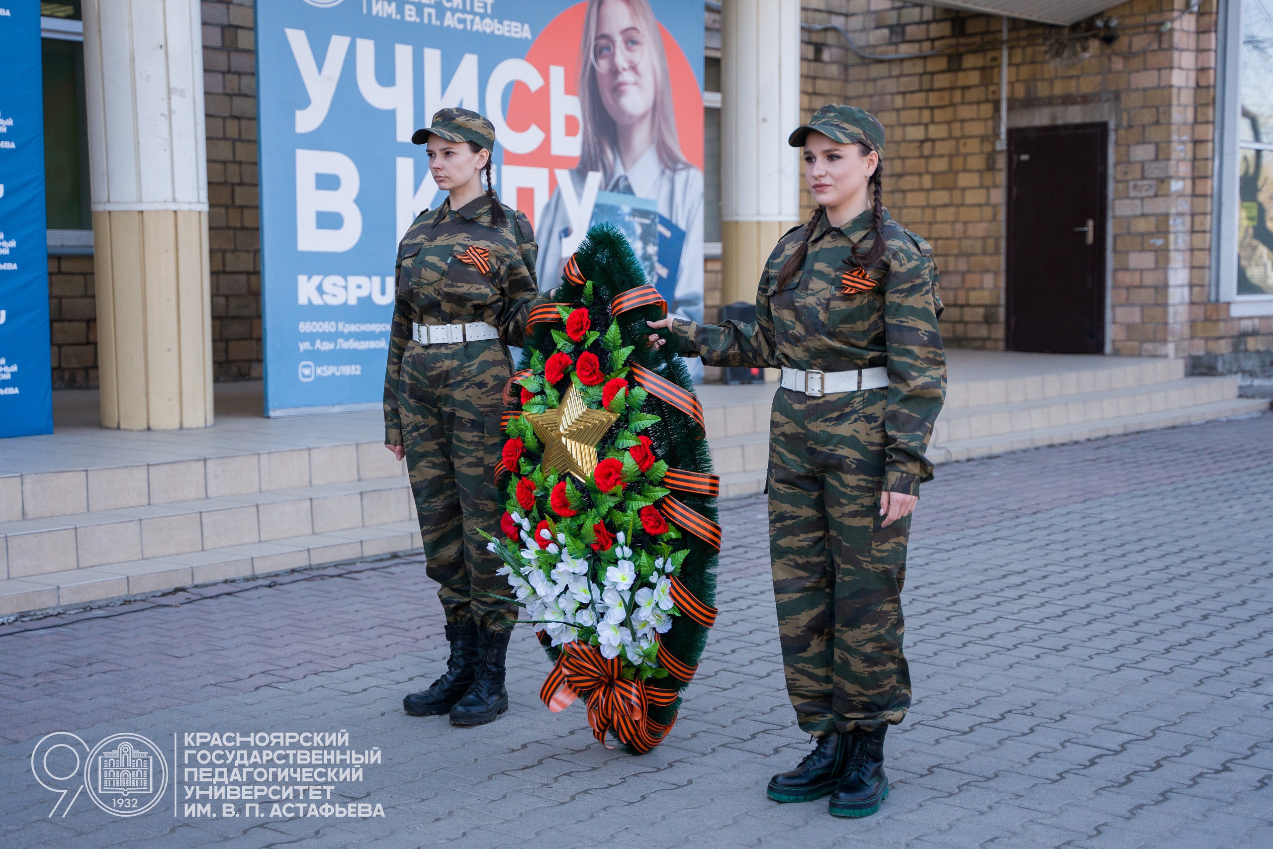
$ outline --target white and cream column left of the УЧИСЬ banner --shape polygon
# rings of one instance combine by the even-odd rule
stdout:
[[[85,0],[102,424],[213,424],[199,0]]]

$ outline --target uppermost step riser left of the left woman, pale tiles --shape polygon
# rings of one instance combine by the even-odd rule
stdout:
[[[256,451],[177,462],[0,474],[0,522],[404,477],[379,442]]]

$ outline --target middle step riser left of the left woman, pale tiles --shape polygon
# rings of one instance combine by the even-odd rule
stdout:
[[[4,522],[0,578],[270,545],[414,518],[407,479],[395,476]]]

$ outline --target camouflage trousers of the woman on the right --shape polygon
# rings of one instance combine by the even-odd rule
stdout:
[[[815,736],[896,724],[910,706],[901,650],[910,517],[880,527],[887,392],[774,398],[774,600],[787,691]]]

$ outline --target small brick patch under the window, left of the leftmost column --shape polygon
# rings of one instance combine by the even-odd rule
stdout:
[[[48,335],[53,388],[97,386],[97,298],[93,257],[48,257]]]

